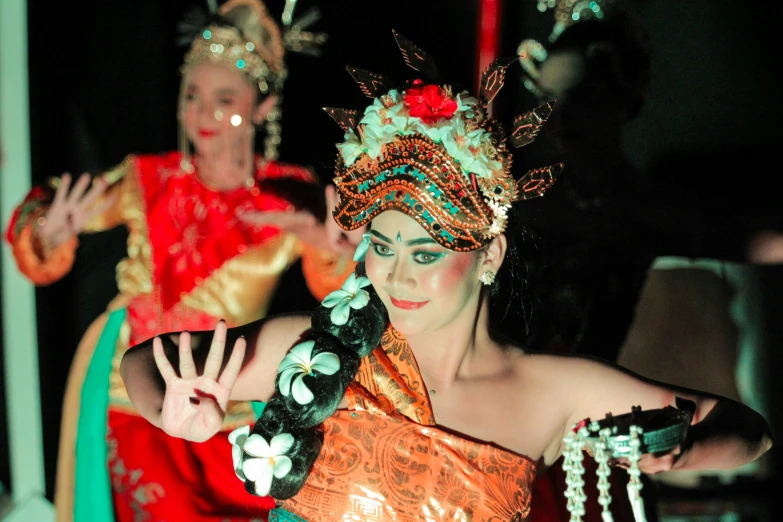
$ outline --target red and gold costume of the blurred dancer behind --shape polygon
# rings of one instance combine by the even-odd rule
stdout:
[[[309,248],[292,234],[239,219],[245,211],[293,209],[275,191],[274,182],[312,183],[309,170],[258,159],[255,184],[221,192],[202,184],[196,173],[184,171],[180,160],[179,153],[129,156],[102,176],[110,185],[105,197],[115,199],[87,224],[86,232],[125,225],[128,255],[117,266],[119,295],[88,330],[71,367],[55,495],[58,520],[72,520],[74,511],[80,512],[74,510],[73,500],[78,475],[74,470],[81,469],[75,448],[80,447],[77,436],[84,433],[80,409],[83,415],[90,407],[82,385],[94,367],[99,338],[104,342],[108,313],[123,310],[116,342],[109,341],[115,349],[108,382],[104,381],[107,425],[101,428],[112,489],[105,494],[113,495],[116,519],[222,522],[264,517],[270,506],[248,495],[237,482],[227,441],[230,430],[255,421],[251,405],[230,404],[223,432],[208,442],[175,439],[133,409],[119,363],[129,346],[160,333],[211,330],[219,319],[234,326],[263,317],[280,276],[300,257],[308,287],[319,299],[339,288],[353,271],[353,263]],[[36,243],[33,226],[46,210],[44,194],[37,190],[28,196],[7,234],[20,270],[36,284],[49,284],[68,273],[77,246],[74,239],[44,253]]]

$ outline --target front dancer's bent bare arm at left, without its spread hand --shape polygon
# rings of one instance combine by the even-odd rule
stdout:
[[[221,372],[225,370],[237,340],[244,337],[247,343],[242,369],[231,389],[231,400],[266,401],[274,391],[280,361],[309,328],[309,315],[286,315],[228,329]],[[163,352],[178,372],[181,367],[179,335],[178,332],[160,336]],[[198,375],[204,373],[214,336],[214,331],[193,332],[190,336],[193,363]],[[155,362],[152,339],[125,353],[120,364],[120,375],[134,408],[149,422],[162,427],[161,411],[166,382]]]

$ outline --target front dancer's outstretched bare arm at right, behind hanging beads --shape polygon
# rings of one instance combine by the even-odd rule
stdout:
[[[566,423],[563,435],[585,419],[602,419],[606,413],[629,413],[675,406],[677,397],[696,404],[695,413],[679,453],[658,461],[645,472],[729,469],[751,462],[772,447],[764,418],[740,403],[692,390],[650,381],[631,372],[588,359],[561,358]]]

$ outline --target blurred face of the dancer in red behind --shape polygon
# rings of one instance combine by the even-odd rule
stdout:
[[[199,154],[214,155],[243,138],[248,141],[254,116],[258,119],[257,89],[242,73],[202,62],[188,71],[184,82],[182,121]]]

